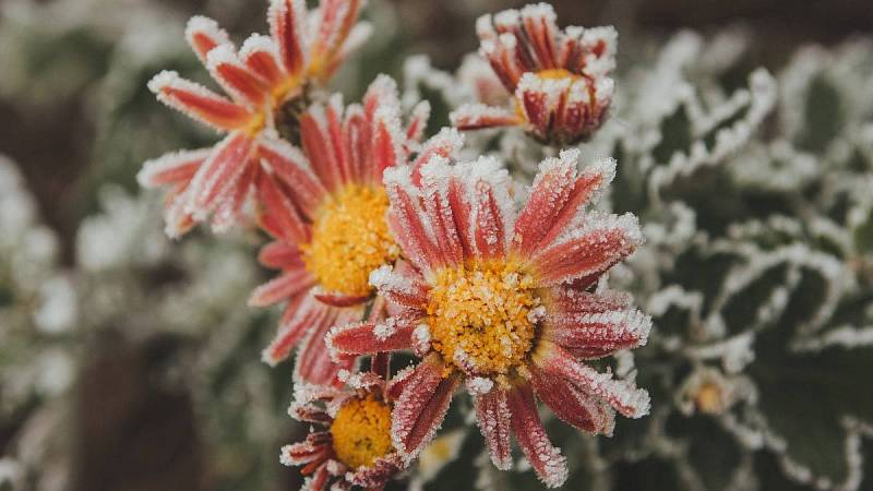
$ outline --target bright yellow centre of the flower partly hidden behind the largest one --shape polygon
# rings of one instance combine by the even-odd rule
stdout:
[[[312,241],[300,250],[307,270],[325,290],[367,296],[370,272],[397,259],[387,208],[384,189],[359,184],[346,185],[319,207]]]

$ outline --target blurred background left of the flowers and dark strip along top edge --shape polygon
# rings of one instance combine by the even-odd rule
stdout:
[[[642,56],[625,46],[655,50],[684,28],[742,33],[744,63],[772,72],[801,46],[873,35],[863,0],[551,3],[562,25],[615,25],[620,65]],[[478,46],[478,15],[522,4],[371,0],[379,34],[335,85],[351,100],[416,53],[454,71]],[[252,261],[258,238],[243,231],[216,246],[199,232],[171,243],[158,195],[137,199],[135,183],[145,159],[214,137],[145,88],[162,69],[204,79],[183,43],[186,20],[212,16],[239,40],[266,29],[264,9],[0,2],[0,215],[14,225],[0,239],[0,489],[299,486],[277,458],[306,431],[285,415],[290,363],[256,362],[274,318],[244,307],[266,277]]]

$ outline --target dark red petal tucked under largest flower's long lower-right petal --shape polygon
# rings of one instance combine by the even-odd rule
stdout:
[[[612,435],[615,412],[574,384],[530,368],[537,396],[565,423],[595,434]]]

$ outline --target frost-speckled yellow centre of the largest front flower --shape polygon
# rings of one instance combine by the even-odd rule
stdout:
[[[534,279],[515,261],[445,267],[428,302],[431,344],[462,369],[506,374],[530,351],[541,310]]]

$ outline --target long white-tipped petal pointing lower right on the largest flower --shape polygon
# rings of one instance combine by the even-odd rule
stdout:
[[[598,373],[553,343],[540,342],[533,360],[549,376],[572,382],[629,418],[641,418],[648,414],[649,396],[645,390],[627,381],[613,380],[611,373]]]

